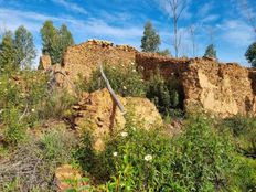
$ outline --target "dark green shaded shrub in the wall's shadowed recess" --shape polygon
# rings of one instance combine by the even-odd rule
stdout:
[[[164,81],[159,72],[148,82],[146,96],[163,116],[174,115],[174,109],[182,109],[183,106],[183,93],[179,81],[174,77]]]

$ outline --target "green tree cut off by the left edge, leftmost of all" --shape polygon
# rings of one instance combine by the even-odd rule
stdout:
[[[11,31],[7,31],[2,35],[0,46],[0,68],[15,68],[15,49],[13,44]]]

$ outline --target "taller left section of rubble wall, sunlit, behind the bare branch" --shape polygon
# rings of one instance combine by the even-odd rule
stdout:
[[[89,40],[85,43],[70,46],[64,53],[63,68],[72,81],[82,74],[88,78],[99,63],[130,64],[135,62],[136,50],[129,45],[117,45],[107,41]]]

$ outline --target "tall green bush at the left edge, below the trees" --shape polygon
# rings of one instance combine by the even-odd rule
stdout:
[[[45,75],[31,71],[0,75],[0,124],[7,143],[18,145],[38,121],[35,108],[46,95],[46,81]]]

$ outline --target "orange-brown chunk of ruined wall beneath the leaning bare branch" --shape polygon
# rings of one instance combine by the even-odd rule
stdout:
[[[126,111],[132,111],[132,119],[140,125],[140,128],[151,129],[156,126],[162,126],[161,116],[149,99],[120,96],[118,98]],[[114,107],[113,99],[106,88],[89,94],[79,103],[83,106],[79,109],[74,109],[72,125],[82,130],[89,128],[95,138],[94,148],[100,151],[104,149],[103,138],[124,129],[126,124],[124,114]]]

